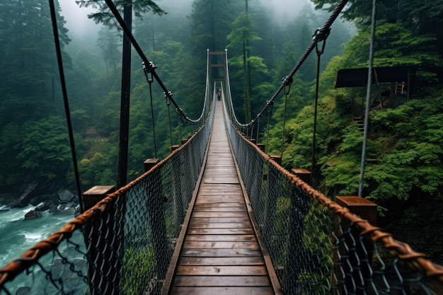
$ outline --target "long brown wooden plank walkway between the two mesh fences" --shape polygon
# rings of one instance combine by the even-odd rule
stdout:
[[[171,287],[163,294],[280,294],[243,196],[222,108],[217,101],[200,188],[178,241],[174,276],[167,278]]]

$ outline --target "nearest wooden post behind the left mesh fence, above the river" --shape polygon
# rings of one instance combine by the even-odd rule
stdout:
[[[115,185],[96,185],[83,193],[85,209],[91,209],[95,204],[115,192]],[[120,282],[120,268],[122,257],[120,253],[110,253],[117,250],[120,243],[123,243],[122,236],[113,238],[106,231],[118,228],[116,224],[115,207],[111,206],[103,214],[108,214],[107,223],[104,224],[101,217],[95,217],[92,224],[86,224],[84,230],[84,240],[88,252],[88,278],[91,294],[113,294]],[[101,227],[101,228],[100,228]],[[123,228],[120,229],[123,231]],[[109,238],[105,238],[108,236]],[[103,278],[100,273],[108,274]],[[107,290],[104,291],[103,290]]]

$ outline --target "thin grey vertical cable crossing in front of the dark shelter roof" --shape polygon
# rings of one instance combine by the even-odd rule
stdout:
[[[362,146],[362,163],[360,166],[360,182],[358,186],[358,195],[363,195],[363,179],[364,179],[364,162],[366,161],[366,146],[367,134],[369,127],[369,100],[371,98],[371,84],[372,84],[372,69],[374,66],[374,39],[375,39],[375,11],[376,0],[372,1],[372,24],[371,24],[371,44],[369,45],[369,68],[367,76],[367,91],[366,91],[366,110],[364,112],[364,134]]]

